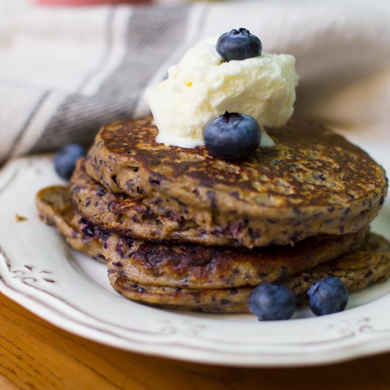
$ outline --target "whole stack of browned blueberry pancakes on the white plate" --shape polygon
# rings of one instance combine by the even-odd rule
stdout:
[[[280,282],[307,302],[319,279],[349,290],[390,275],[390,243],[369,232],[383,169],[321,125],[291,120],[245,160],[155,142],[151,118],[101,129],[69,187],[38,193],[42,218],[108,263],[137,302],[248,312],[252,289]]]

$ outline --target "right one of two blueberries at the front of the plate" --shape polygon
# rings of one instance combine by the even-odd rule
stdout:
[[[314,282],[307,291],[309,306],[315,315],[343,311],[348,302],[345,284],[336,276]]]

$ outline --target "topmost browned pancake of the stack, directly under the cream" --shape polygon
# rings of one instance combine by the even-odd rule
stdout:
[[[245,161],[159,144],[156,134],[150,118],[103,127],[86,159],[88,175],[156,215],[194,221],[200,234],[237,245],[356,232],[387,193],[383,169],[366,152],[312,122],[269,129],[276,146]]]

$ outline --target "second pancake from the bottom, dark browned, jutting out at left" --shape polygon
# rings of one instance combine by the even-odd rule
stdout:
[[[41,190],[38,208],[62,234],[68,235],[63,226],[72,226],[71,236],[80,237],[85,243],[103,237],[102,252],[121,269],[122,276],[171,287],[223,288],[272,282],[359,249],[368,234],[366,226],[358,233],[311,237],[294,247],[205,247],[135,240],[114,232],[102,234],[76,211],[66,187]]]

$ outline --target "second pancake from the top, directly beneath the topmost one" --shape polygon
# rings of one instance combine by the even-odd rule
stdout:
[[[308,224],[312,227],[320,223],[313,219],[303,219],[299,223],[295,220],[265,223],[263,219],[229,221],[229,218],[220,218],[222,225],[208,224],[206,229],[210,232],[207,232],[205,226],[196,220],[185,219],[172,212],[165,214],[160,212],[158,205],[149,207],[123,193],[107,190],[86,174],[83,159],[78,161],[73,173],[70,193],[71,200],[86,220],[103,230],[116,231],[140,240],[252,247],[260,246],[265,237],[270,237],[273,243],[281,241],[285,244],[290,238],[285,235],[285,223],[289,224],[290,229],[295,227],[296,233],[306,232],[305,226]],[[237,218],[235,215],[233,217]]]

